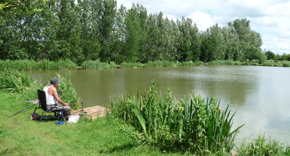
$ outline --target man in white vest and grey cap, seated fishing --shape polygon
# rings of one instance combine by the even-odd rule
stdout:
[[[52,78],[50,80],[50,85],[45,86],[43,91],[45,91],[46,95],[46,104],[47,104],[47,110],[53,110],[56,108],[62,108],[63,107],[63,117],[66,117],[65,119],[68,120],[68,116],[71,114],[71,108],[68,103],[63,102],[57,94],[56,87],[60,84],[60,80],[57,78]],[[63,106],[58,106],[58,103],[62,104]]]

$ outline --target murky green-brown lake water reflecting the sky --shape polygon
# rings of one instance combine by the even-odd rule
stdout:
[[[263,66],[179,66],[123,69],[29,71],[31,77],[48,83],[55,73],[71,74],[71,82],[82,101],[148,91],[156,80],[162,95],[170,87],[182,98],[191,91],[203,97],[220,98],[221,108],[230,104],[234,126],[245,124],[238,138],[256,138],[259,132],[290,143],[290,68]],[[85,103],[84,107],[110,106],[110,100]]]

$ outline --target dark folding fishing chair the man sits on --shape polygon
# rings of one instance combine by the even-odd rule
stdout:
[[[44,110],[42,112],[42,115],[38,115],[40,116],[40,120],[39,123],[42,121],[42,117],[44,113],[55,113],[55,117],[60,118],[60,120],[64,121],[65,124],[67,124],[67,122],[65,121],[65,118],[63,117],[63,108],[56,108],[56,109],[52,109],[50,111],[47,110],[47,104],[46,104],[46,95],[45,95],[45,91],[37,89],[37,93],[38,93],[38,100],[39,100],[39,107],[35,108],[34,112],[32,114],[37,114],[35,113],[36,109],[41,108],[42,110]]]

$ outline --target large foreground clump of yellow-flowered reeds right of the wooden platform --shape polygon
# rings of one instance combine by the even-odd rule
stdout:
[[[170,88],[167,91],[162,98],[153,80],[148,95],[143,92],[140,98],[127,95],[112,101],[111,113],[128,125],[120,132],[160,150],[230,152],[243,125],[232,130],[234,115],[230,116],[228,106],[222,110],[214,97],[202,98],[193,93],[189,99],[184,96],[177,101]]]

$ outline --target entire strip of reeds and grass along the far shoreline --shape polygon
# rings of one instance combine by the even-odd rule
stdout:
[[[116,68],[117,66],[122,66],[125,68],[133,67],[162,67],[162,66],[194,66],[194,65],[206,65],[202,61],[186,61],[186,62],[173,62],[173,61],[149,61],[147,63],[130,63],[123,62],[116,64],[115,62],[100,62],[96,61],[85,61],[82,66],[87,69],[107,69],[107,68]],[[254,66],[275,66],[275,67],[290,67],[290,61],[275,61],[275,60],[266,60],[266,61],[232,61],[232,60],[217,60],[208,62],[207,65],[254,65]],[[15,69],[15,70],[53,70],[53,69],[77,69],[79,68],[74,62],[68,59],[60,59],[57,61],[33,61],[33,60],[0,60],[0,71],[5,69]]]

